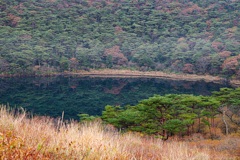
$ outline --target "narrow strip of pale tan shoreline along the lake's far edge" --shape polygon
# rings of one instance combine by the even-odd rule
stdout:
[[[175,74],[161,71],[136,71],[136,70],[116,70],[116,69],[100,69],[100,70],[78,70],[76,72],[65,71],[62,73],[51,74],[37,74],[37,75],[4,75],[0,74],[0,78],[10,77],[52,77],[52,76],[80,76],[80,77],[109,77],[109,78],[161,78],[170,80],[184,80],[184,81],[205,81],[213,83],[229,83],[233,87],[240,86],[240,80],[229,80],[219,76],[211,75],[196,75],[196,74]]]

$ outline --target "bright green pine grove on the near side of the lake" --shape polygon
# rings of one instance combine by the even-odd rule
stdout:
[[[81,120],[93,116],[80,114]],[[189,94],[155,95],[135,106],[106,106],[102,120],[121,131],[154,134],[167,138],[193,133],[216,137],[216,129],[224,134],[240,127],[240,88],[222,88],[212,96]],[[218,122],[216,122],[216,118]],[[222,119],[222,123],[219,123]]]

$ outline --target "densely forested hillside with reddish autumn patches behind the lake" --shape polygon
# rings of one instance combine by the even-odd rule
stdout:
[[[239,0],[0,0],[0,74],[129,68],[240,79]]]

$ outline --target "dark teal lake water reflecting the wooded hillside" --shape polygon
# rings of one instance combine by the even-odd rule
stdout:
[[[135,105],[154,94],[210,95],[222,84],[158,78],[29,77],[0,78],[0,104],[21,106],[37,115],[78,119],[101,115],[106,105]]]

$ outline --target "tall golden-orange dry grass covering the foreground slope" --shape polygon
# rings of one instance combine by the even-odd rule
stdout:
[[[207,160],[228,159],[217,150],[163,142],[134,133],[119,134],[96,121],[62,123],[46,117],[14,115],[0,106],[0,159]],[[225,156],[225,157],[224,157]],[[226,158],[227,157],[227,158]]]

